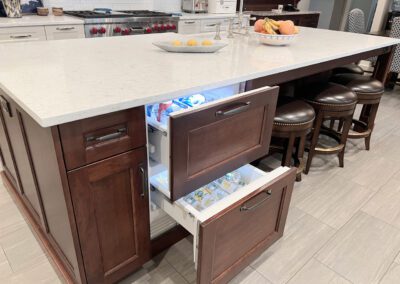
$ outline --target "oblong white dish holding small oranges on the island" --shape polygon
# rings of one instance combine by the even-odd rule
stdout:
[[[212,53],[227,46],[227,43],[214,41],[204,38],[192,38],[188,40],[172,40],[159,41],[153,44],[168,52],[183,52],[183,53]]]

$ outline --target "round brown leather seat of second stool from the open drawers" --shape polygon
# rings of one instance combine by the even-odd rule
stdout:
[[[351,105],[357,101],[353,91],[334,83],[315,84],[302,93],[306,101],[321,105]]]

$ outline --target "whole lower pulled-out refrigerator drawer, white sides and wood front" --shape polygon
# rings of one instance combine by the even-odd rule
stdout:
[[[266,173],[250,165],[237,172],[246,181],[207,208],[171,202],[157,190],[152,200],[193,234],[197,283],[226,283],[283,235],[296,170]]]

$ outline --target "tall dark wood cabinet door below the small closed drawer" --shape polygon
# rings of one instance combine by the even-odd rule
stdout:
[[[150,255],[146,148],[68,173],[88,283],[114,283]]]

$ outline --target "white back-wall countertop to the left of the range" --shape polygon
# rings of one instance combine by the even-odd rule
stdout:
[[[53,25],[79,25],[83,20],[71,16],[38,16],[23,15],[22,18],[0,17],[0,28],[31,27],[31,26],[53,26]]]

